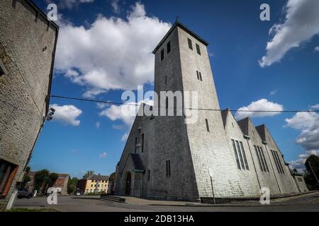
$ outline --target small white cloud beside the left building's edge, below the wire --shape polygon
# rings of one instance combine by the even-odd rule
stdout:
[[[62,122],[63,124],[71,124],[73,126],[79,126],[80,122],[77,120],[82,110],[75,107],[74,105],[57,105],[53,104],[50,107],[55,109],[55,114],[53,114],[53,120]]]

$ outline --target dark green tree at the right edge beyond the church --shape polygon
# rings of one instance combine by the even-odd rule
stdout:
[[[309,189],[319,189],[319,157],[317,155],[310,155],[305,162],[305,166],[305,182]]]

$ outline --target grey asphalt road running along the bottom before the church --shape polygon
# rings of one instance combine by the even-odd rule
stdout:
[[[67,212],[212,212],[212,211],[319,211],[319,194],[311,194],[306,197],[293,198],[288,201],[272,202],[270,205],[197,205],[197,206],[150,206],[131,203],[112,203],[108,201],[99,201],[90,198],[77,198],[77,196],[58,196],[57,205],[47,204],[44,197],[35,197],[30,199],[17,199],[13,208],[56,208],[57,210]]]

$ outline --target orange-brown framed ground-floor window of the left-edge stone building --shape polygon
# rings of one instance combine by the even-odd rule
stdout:
[[[17,165],[0,160],[0,197],[8,194],[13,178],[16,176]]]

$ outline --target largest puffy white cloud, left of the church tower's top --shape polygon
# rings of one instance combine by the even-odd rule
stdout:
[[[107,90],[136,90],[152,83],[156,44],[170,28],[146,15],[136,3],[126,20],[99,15],[89,28],[62,23],[57,43],[55,69],[93,97]]]

